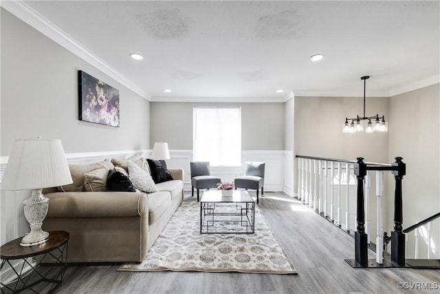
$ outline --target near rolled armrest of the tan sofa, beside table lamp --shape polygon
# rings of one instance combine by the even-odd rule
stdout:
[[[48,218],[109,218],[148,214],[148,197],[142,192],[57,192],[45,194]]]

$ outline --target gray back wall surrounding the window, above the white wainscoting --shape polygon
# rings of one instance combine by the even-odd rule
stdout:
[[[151,148],[167,142],[170,149],[192,149],[194,106],[241,106],[243,150],[284,149],[283,103],[151,103]],[[215,134],[212,134],[215,136]]]

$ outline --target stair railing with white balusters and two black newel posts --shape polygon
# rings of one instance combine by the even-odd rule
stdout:
[[[401,162],[401,158],[396,158],[396,162],[393,162],[392,165],[364,162],[363,158],[358,158],[357,161],[299,155],[296,158],[298,158],[297,198],[347,233],[352,233],[351,224],[353,224],[356,266],[367,266],[369,263],[367,249],[369,244],[374,246],[369,238],[371,231],[375,231],[375,242],[378,244],[375,246],[376,263],[383,264],[383,171],[392,171],[396,181],[396,190],[395,231],[392,233],[392,244],[394,245],[391,259],[397,266],[403,266],[405,243],[402,242],[402,236],[404,238],[405,235],[401,231],[401,180],[405,174],[406,165]],[[312,163],[314,169],[311,168]],[[375,173],[375,177],[371,173]],[[354,176],[356,180],[354,180]],[[375,179],[373,181],[375,189],[371,189],[372,179]],[[331,188],[330,193],[328,193],[328,187]],[[336,198],[334,197],[335,187]],[[344,197],[342,197],[343,187],[345,187]],[[351,187],[356,187],[356,192]],[[375,198],[371,198],[372,191],[375,191]],[[376,209],[373,209],[373,205],[371,205],[373,200],[376,202]],[[344,220],[342,219],[342,209],[344,209]],[[370,217],[372,215],[374,215],[373,218]],[[375,220],[375,228],[371,226],[371,220]]]

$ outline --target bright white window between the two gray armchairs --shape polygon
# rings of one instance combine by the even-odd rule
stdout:
[[[194,107],[192,120],[194,161],[241,165],[241,107]]]

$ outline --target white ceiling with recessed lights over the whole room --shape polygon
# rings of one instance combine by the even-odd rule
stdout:
[[[2,6],[151,101],[362,96],[364,75],[366,96],[439,83],[439,1],[24,2]]]

